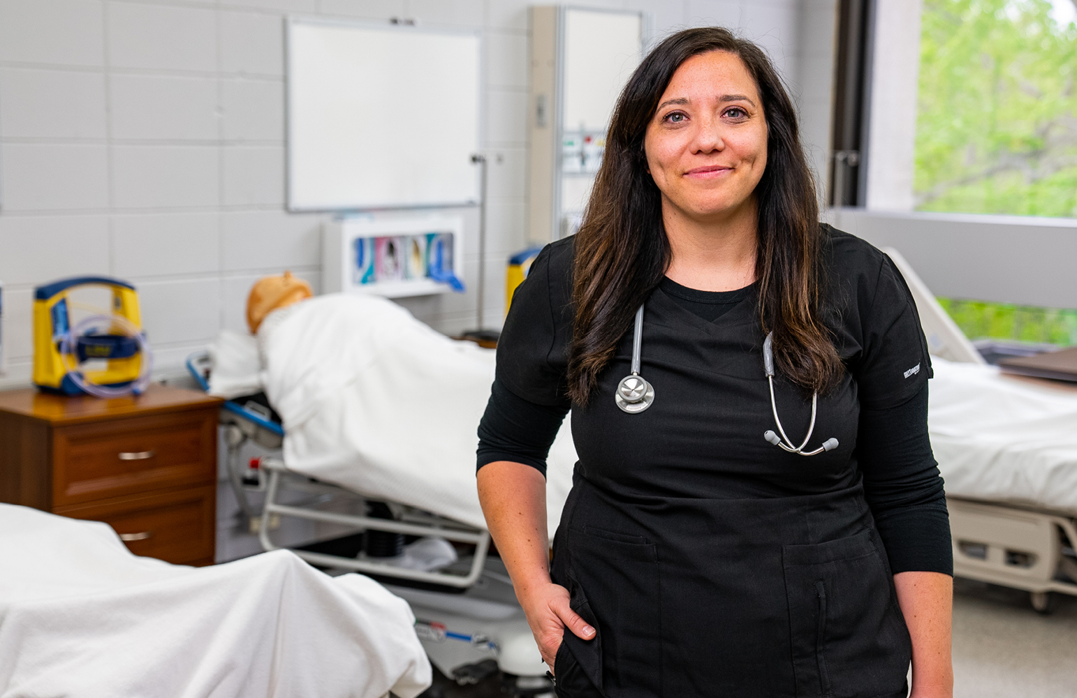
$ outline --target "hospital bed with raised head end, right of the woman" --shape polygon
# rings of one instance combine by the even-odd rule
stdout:
[[[932,447],[946,480],[954,574],[1029,592],[1035,610],[1077,596],[1077,387],[989,366],[910,265],[935,379]]]

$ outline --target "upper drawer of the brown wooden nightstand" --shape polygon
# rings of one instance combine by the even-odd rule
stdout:
[[[190,411],[53,431],[53,507],[215,481],[216,414]]]

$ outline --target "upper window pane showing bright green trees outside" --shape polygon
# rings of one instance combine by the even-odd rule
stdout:
[[[1077,216],[1077,0],[924,0],[918,211]]]

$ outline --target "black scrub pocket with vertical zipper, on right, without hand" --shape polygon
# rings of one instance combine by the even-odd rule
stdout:
[[[906,696],[912,645],[875,531],[782,546],[797,696]]]

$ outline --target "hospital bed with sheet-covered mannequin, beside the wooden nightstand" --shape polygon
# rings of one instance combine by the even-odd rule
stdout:
[[[264,489],[261,511],[246,510],[262,546],[280,546],[275,518],[348,527],[354,535],[290,550],[312,565],[369,574],[408,600],[431,661],[458,682],[500,670],[512,695],[550,693],[512,582],[489,554],[475,488],[476,427],[494,353],[450,340],[375,296],[328,295],[276,312],[292,315],[267,322],[256,340],[219,339],[212,360],[206,354],[188,359],[204,389],[216,387],[227,398],[221,421],[237,495]],[[235,352],[222,356],[226,347]],[[234,370],[242,361],[233,359],[244,352],[251,365],[242,370],[261,382]],[[222,367],[232,374],[219,380]],[[243,389],[229,394],[222,385]],[[268,400],[250,394],[258,386]],[[248,441],[282,453],[251,469],[239,457]],[[565,424],[549,459],[550,530],[575,459]],[[288,496],[296,490],[359,499],[365,505],[356,511],[366,513],[298,505]],[[372,550],[372,540],[383,547],[394,538],[396,551],[401,542],[442,541],[454,555],[439,565],[415,565],[407,551]]]

